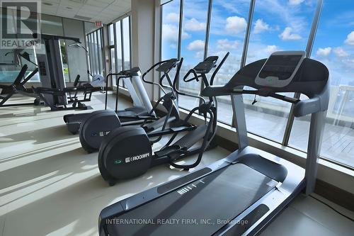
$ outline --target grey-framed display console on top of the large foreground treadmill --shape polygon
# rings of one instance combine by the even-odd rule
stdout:
[[[256,84],[268,87],[285,87],[294,78],[302,60],[304,51],[273,52],[256,77]]]

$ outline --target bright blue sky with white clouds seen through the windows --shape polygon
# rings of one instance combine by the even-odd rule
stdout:
[[[253,14],[247,63],[258,60],[275,50],[304,50],[312,25],[316,0],[257,0]],[[333,10],[334,9],[334,10]],[[229,59],[220,72],[223,80],[239,69],[244,47],[249,0],[213,0],[208,55]],[[164,58],[176,57],[179,1],[164,6]],[[185,0],[183,8],[183,40],[181,55],[185,67],[193,67],[202,59],[206,0]],[[331,72],[331,84],[354,84],[354,1],[324,0],[312,57],[324,62]]]

